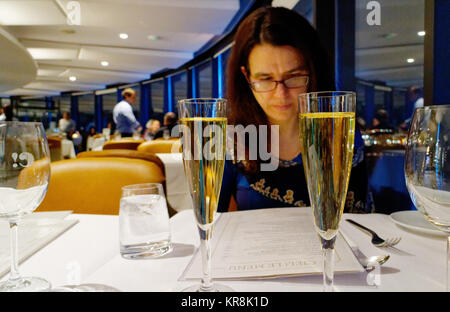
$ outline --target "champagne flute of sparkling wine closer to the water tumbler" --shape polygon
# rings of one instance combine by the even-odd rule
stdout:
[[[200,233],[203,278],[201,285],[184,291],[232,291],[211,281],[212,226],[222,186],[226,149],[226,104],[224,99],[178,101],[183,133],[183,162]]]

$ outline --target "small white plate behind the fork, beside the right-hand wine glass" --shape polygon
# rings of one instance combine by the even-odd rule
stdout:
[[[394,212],[391,213],[390,217],[396,224],[404,226],[410,230],[427,234],[445,235],[442,231],[438,230],[434,225],[425,220],[425,217],[416,210]]]

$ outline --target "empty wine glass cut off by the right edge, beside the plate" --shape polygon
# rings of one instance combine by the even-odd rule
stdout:
[[[447,234],[450,291],[450,105],[414,111],[406,144],[405,178],[417,210]]]

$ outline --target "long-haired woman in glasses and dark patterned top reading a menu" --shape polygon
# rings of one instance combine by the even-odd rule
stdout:
[[[275,171],[260,170],[263,161],[248,157],[247,140],[247,158],[233,155],[233,161],[226,161],[218,211],[310,205],[297,98],[334,90],[328,58],[317,32],[294,11],[260,8],[241,23],[227,65],[228,123],[278,125],[279,165]],[[355,200],[352,194],[351,208]]]

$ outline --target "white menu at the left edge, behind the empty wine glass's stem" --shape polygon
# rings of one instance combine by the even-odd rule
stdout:
[[[78,223],[64,220],[72,211],[35,212],[19,223],[19,263],[22,263],[62,233]],[[11,265],[9,223],[0,221],[0,278],[9,273]]]

